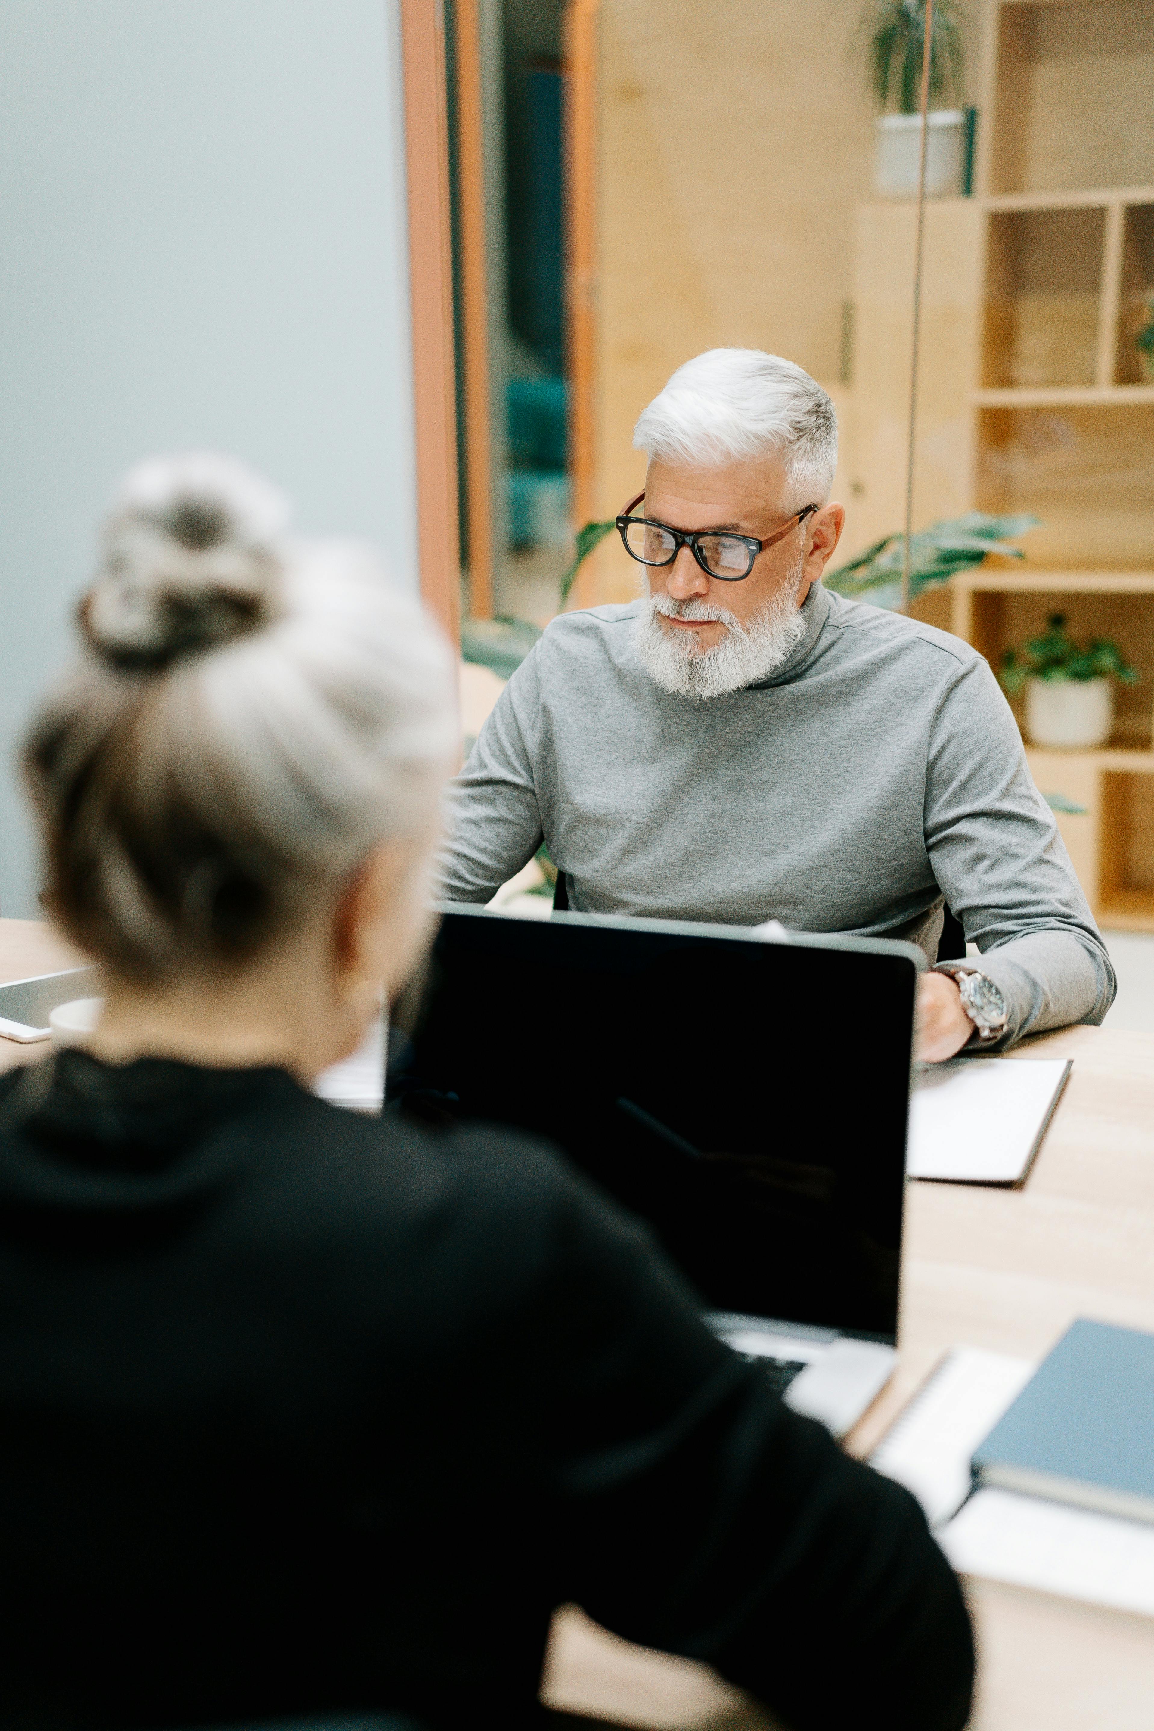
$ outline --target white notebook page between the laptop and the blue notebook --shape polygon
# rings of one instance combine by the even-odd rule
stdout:
[[[938,1527],[969,1496],[974,1449],[1035,1369],[1029,1359],[955,1347],[889,1426],[870,1466],[912,1490]]]

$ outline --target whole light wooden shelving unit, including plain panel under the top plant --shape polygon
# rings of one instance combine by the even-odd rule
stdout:
[[[1138,682],[1118,687],[1109,744],[1026,755],[1042,793],[1080,807],[1057,822],[1099,921],[1154,931],[1154,377],[1133,341],[1154,291],[1154,0],[986,0],[981,24],[976,194],[927,208],[915,519],[1042,521],[1021,563],[915,611],[995,670],[1054,611],[1119,642]],[[867,540],[901,521],[912,203],[862,206],[856,246]]]

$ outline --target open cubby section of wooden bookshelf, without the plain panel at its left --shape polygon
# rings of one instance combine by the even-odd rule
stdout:
[[[997,666],[1061,608],[1138,668],[1107,748],[1028,758],[1085,808],[1057,820],[1099,921],[1154,931],[1154,379],[1133,343],[1154,289],[1154,3],[991,0],[983,114],[974,502],[1043,524],[1028,568],[955,589],[952,627]]]

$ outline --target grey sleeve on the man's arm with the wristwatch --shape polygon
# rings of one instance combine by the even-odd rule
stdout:
[[[1009,1023],[993,1049],[1100,1023],[1114,969],[984,661],[958,668],[938,705],[924,822],[934,878],[1005,997]]]

